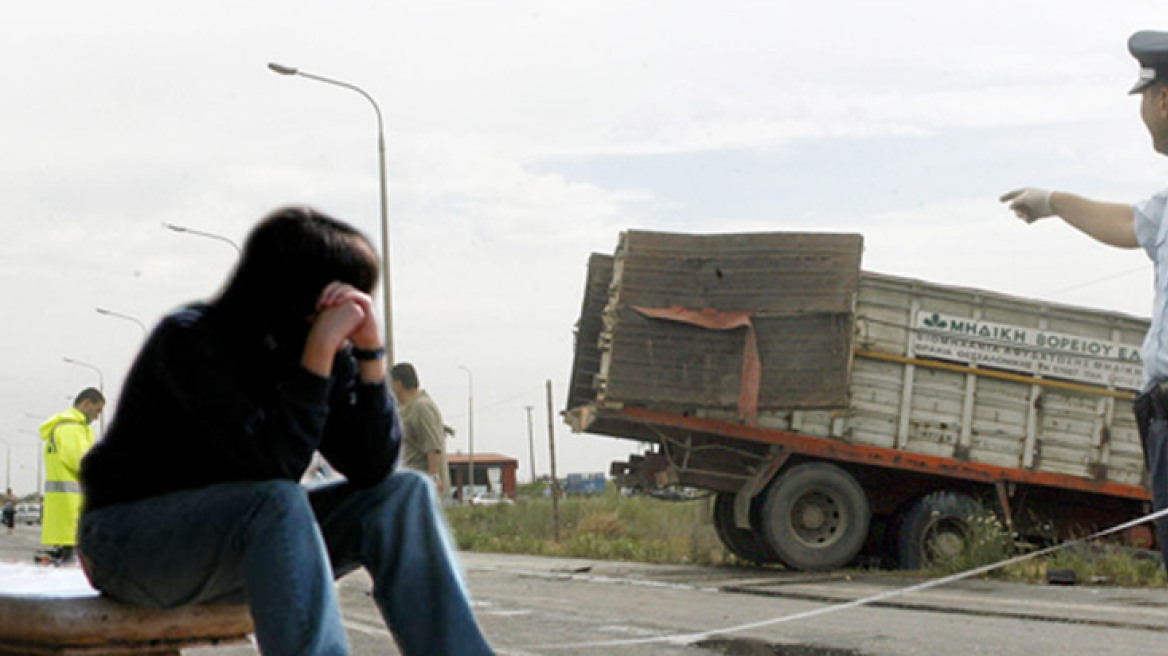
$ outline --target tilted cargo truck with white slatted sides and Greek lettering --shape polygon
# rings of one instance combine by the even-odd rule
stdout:
[[[987,512],[1052,542],[1149,510],[1146,320],[865,272],[861,251],[623,233],[589,261],[568,424],[644,442],[619,484],[711,490],[731,553],[797,570],[862,549],[918,568]]]

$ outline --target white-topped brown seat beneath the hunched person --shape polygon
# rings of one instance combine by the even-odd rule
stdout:
[[[135,608],[102,596],[77,567],[0,563],[0,656],[178,655],[251,633],[246,606]]]

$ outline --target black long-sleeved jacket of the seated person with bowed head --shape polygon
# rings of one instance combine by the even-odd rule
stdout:
[[[348,350],[329,378],[300,365],[304,332],[277,337],[193,305],[154,329],[104,439],[82,461],[86,508],[234,481],[297,481],[319,449],[359,486],[395,466],[401,427],[383,382]]]

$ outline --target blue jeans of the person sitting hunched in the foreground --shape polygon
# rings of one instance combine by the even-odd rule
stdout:
[[[264,481],[176,491],[85,512],[78,542],[93,586],[113,599],[246,601],[263,654],[347,654],[333,577],[359,565],[403,654],[493,654],[433,484],[416,472],[368,488]]]

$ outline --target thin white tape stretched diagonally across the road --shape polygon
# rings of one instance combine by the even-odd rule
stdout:
[[[979,574],[985,574],[986,572],[992,572],[994,570],[1000,570],[1002,567],[1008,567],[1009,565],[1014,565],[1016,563],[1022,563],[1022,561],[1029,560],[1031,558],[1038,558],[1038,557],[1045,556],[1048,553],[1054,553],[1056,551],[1059,551],[1059,550],[1063,550],[1063,549],[1068,549],[1068,547],[1073,546],[1076,544],[1082,544],[1082,543],[1085,543],[1085,542],[1096,540],[1096,539],[1099,539],[1101,537],[1106,537],[1106,536],[1110,536],[1110,535],[1118,533],[1120,531],[1126,531],[1127,529],[1131,529],[1133,526],[1138,526],[1138,525],[1147,523],[1147,522],[1153,522],[1153,521],[1159,519],[1159,518],[1164,517],[1164,516],[1168,516],[1168,508],[1166,508],[1163,510],[1157,510],[1155,512],[1152,512],[1150,515],[1145,515],[1143,517],[1139,517],[1139,518],[1132,519],[1129,522],[1124,522],[1122,524],[1117,524],[1117,525],[1114,525],[1114,526],[1112,526],[1110,529],[1101,530],[1101,531],[1099,531],[1097,533],[1090,535],[1090,536],[1084,537],[1084,538],[1078,538],[1078,539],[1072,539],[1072,540],[1063,542],[1063,543],[1056,544],[1054,546],[1048,546],[1045,549],[1040,549],[1038,551],[1031,551],[1030,553],[1023,553],[1022,556],[1015,556],[1014,558],[1007,558],[1006,560],[999,560],[997,563],[992,563],[989,565],[982,565],[980,567],[974,567],[973,570],[966,570],[964,572],[958,572],[955,574],[950,574],[947,577],[941,577],[939,579],[930,579],[927,581],[924,581],[924,582],[920,582],[920,584],[917,584],[917,585],[913,585],[913,586],[909,586],[909,587],[903,587],[903,588],[897,588],[897,589],[890,589],[890,591],[887,591],[887,592],[882,592],[880,594],[874,594],[871,596],[865,596],[863,599],[855,599],[855,600],[847,601],[847,602],[843,602],[843,603],[835,603],[835,605],[832,605],[832,606],[825,606],[822,608],[815,608],[815,609],[812,609],[812,610],[804,610],[802,613],[794,613],[794,614],[791,614],[791,615],[780,615],[778,617],[771,617],[770,620],[762,620],[762,621],[758,621],[758,622],[750,622],[750,623],[746,623],[746,624],[737,624],[737,626],[734,626],[734,627],[725,627],[725,628],[722,628],[722,629],[711,629],[711,630],[705,630],[705,631],[701,631],[701,633],[674,634],[674,635],[665,635],[665,636],[656,636],[656,637],[638,637],[638,638],[626,638],[626,640],[609,640],[609,641],[571,643],[571,644],[569,644],[569,643],[564,643],[564,644],[537,644],[537,645],[530,645],[530,647],[528,647],[528,649],[545,649],[545,650],[590,649],[590,648],[596,648],[596,647],[624,647],[624,645],[632,645],[632,644],[648,644],[648,643],[653,643],[653,642],[669,642],[669,643],[674,643],[674,644],[690,644],[690,643],[697,642],[700,640],[708,640],[708,638],[710,638],[712,636],[716,636],[716,635],[725,635],[725,634],[732,634],[732,633],[741,633],[741,631],[745,631],[745,630],[750,630],[750,629],[757,629],[757,628],[762,628],[762,627],[769,627],[769,626],[772,626],[772,624],[781,624],[781,623],[786,623],[786,622],[794,622],[797,620],[806,620],[806,619],[809,619],[809,617],[818,617],[820,615],[827,615],[829,613],[839,613],[840,610],[846,610],[848,608],[856,608],[858,606],[867,606],[869,603],[875,603],[877,601],[883,601],[885,599],[891,599],[894,596],[901,596],[901,595],[913,593],[913,592],[920,592],[923,589],[939,587],[939,586],[943,586],[943,585],[946,585],[946,584],[951,584],[953,581],[959,581],[961,579],[968,579],[971,577],[976,577]]]

